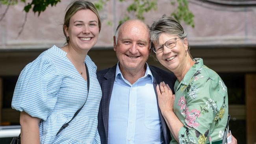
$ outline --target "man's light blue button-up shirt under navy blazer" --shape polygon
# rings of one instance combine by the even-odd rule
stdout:
[[[134,84],[124,79],[119,69],[109,104],[108,144],[162,144],[153,76],[150,68]]]

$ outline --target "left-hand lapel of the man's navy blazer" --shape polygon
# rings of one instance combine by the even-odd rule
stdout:
[[[112,94],[112,89],[115,81],[115,71],[116,66],[113,66],[105,74],[105,80],[102,81],[102,116],[104,122],[104,128],[106,133],[106,138],[108,140],[108,114],[109,114],[109,103]]]

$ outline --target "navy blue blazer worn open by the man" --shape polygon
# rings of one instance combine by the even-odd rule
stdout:
[[[110,97],[115,81],[115,71],[117,65],[97,72],[97,78],[100,83],[100,87],[102,89],[102,99],[100,102],[99,112],[98,112],[98,133],[100,135],[100,140],[102,144],[108,144],[108,113],[109,113],[109,102]],[[176,81],[176,77],[173,73],[167,72],[166,70],[162,70],[157,68],[156,66],[149,66],[151,73],[154,77],[153,85],[154,90],[156,92],[156,85],[158,85],[161,81],[167,83],[171,89],[173,90],[174,83]],[[173,90],[174,93],[174,90]],[[157,92],[156,92],[157,97]],[[169,144],[171,141],[171,134],[168,126],[165,123],[165,120],[160,112],[158,107],[158,113],[161,119],[162,132],[164,137],[165,144]]]

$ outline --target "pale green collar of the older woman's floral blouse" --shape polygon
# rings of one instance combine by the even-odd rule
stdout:
[[[184,85],[188,85],[190,79],[197,73],[199,68],[202,68],[202,66],[204,65],[203,59],[201,58],[195,58],[193,59],[193,61],[195,61],[195,64],[191,68],[189,68],[186,75],[181,81],[181,83]]]

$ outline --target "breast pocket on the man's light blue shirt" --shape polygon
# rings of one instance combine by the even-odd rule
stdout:
[[[156,104],[153,104],[153,103],[145,104],[144,123],[148,129],[151,129],[154,131],[161,131],[161,122],[160,122],[160,117],[158,113],[158,107]]]

